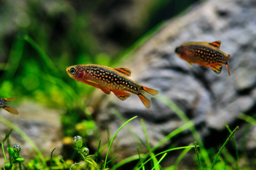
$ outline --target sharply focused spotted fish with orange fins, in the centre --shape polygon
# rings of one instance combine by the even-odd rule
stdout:
[[[92,85],[104,93],[113,92],[120,100],[130,97],[130,93],[137,94],[145,107],[151,105],[151,97],[158,94],[157,90],[140,85],[126,76],[131,76],[131,70],[126,68],[112,68],[99,64],[79,64],[67,68],[71,78],[81,83]]]

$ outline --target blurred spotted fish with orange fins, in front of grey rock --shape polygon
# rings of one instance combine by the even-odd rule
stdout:
[[[211,67],[216,73],[220,73],[222,64],[225,64],[228,69],[228,60],[230,55],[227,55],[220,50],[221,41],[208,42],[188,42],[175,48],[175,53],[189,65],[192,63],[199,64],[205,67]],[[228,74],[230,72],[228,69]]]

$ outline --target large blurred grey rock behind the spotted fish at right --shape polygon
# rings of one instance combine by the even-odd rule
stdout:
[[[244,121],[237,121],[239,113],[252,115],[255,112],[255,13],[254,0],[209,0],[196,4],[169,20],[120,67],[129,68],[132,70],[133,80],[159,90],[177,104],[195,122],[197,131],[209,146],[211,141],[221,144],[228,136],[224,123],[228,123],[231,128],[243,126]],[[228,76],[225,66],[221,74],[216,74],[210,68],[196,64],[190,67],[174,54],[177,46],[188,41],[217,40],[222,41],[220,49],[231,55],[231,76]],[[135,115],[143,118],[151,145],[183,124],[172,110],[156,99],[152,99],[150,109],[144,107],[136,95],[131,95],[125,101],[113,94],[104,99],[108,100],[101,101],[101,107],[96,109],[99,110],[96,121],[102,134],[107,133],[107,125],[113,135],[122,124],[113,115],[113,110],[117,110],[126,119]],[[140,138],[145,138],[140,119],[133,120],[130,125],[128,129]],[[224,135],[212,136],[213,131]],[[173,139],[180,146],[194,141],[189,131],[182,134],[183,136]],[[118,155],[124,158],[125,154],[128,156],[137,153],[134,140],[126,129],[118,133],[118,138]],[[251,141],[249,145],[250,148],[256,148],[255,141]]]

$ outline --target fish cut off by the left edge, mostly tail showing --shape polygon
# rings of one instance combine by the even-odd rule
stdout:
[[[14,108],[14,104],[18,97],[11,97],[11,98],[0,98],[0,108],[3,108],[4,110],[18,115],[19,112]]]

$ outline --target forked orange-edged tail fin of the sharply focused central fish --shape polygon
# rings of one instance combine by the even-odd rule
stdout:
[[[151,97],[156,96],[157,94],[157,90],[142,86],[142,89],[138,96],[142,103],[144,104],[144,106],[149,108],[151,106]]]

